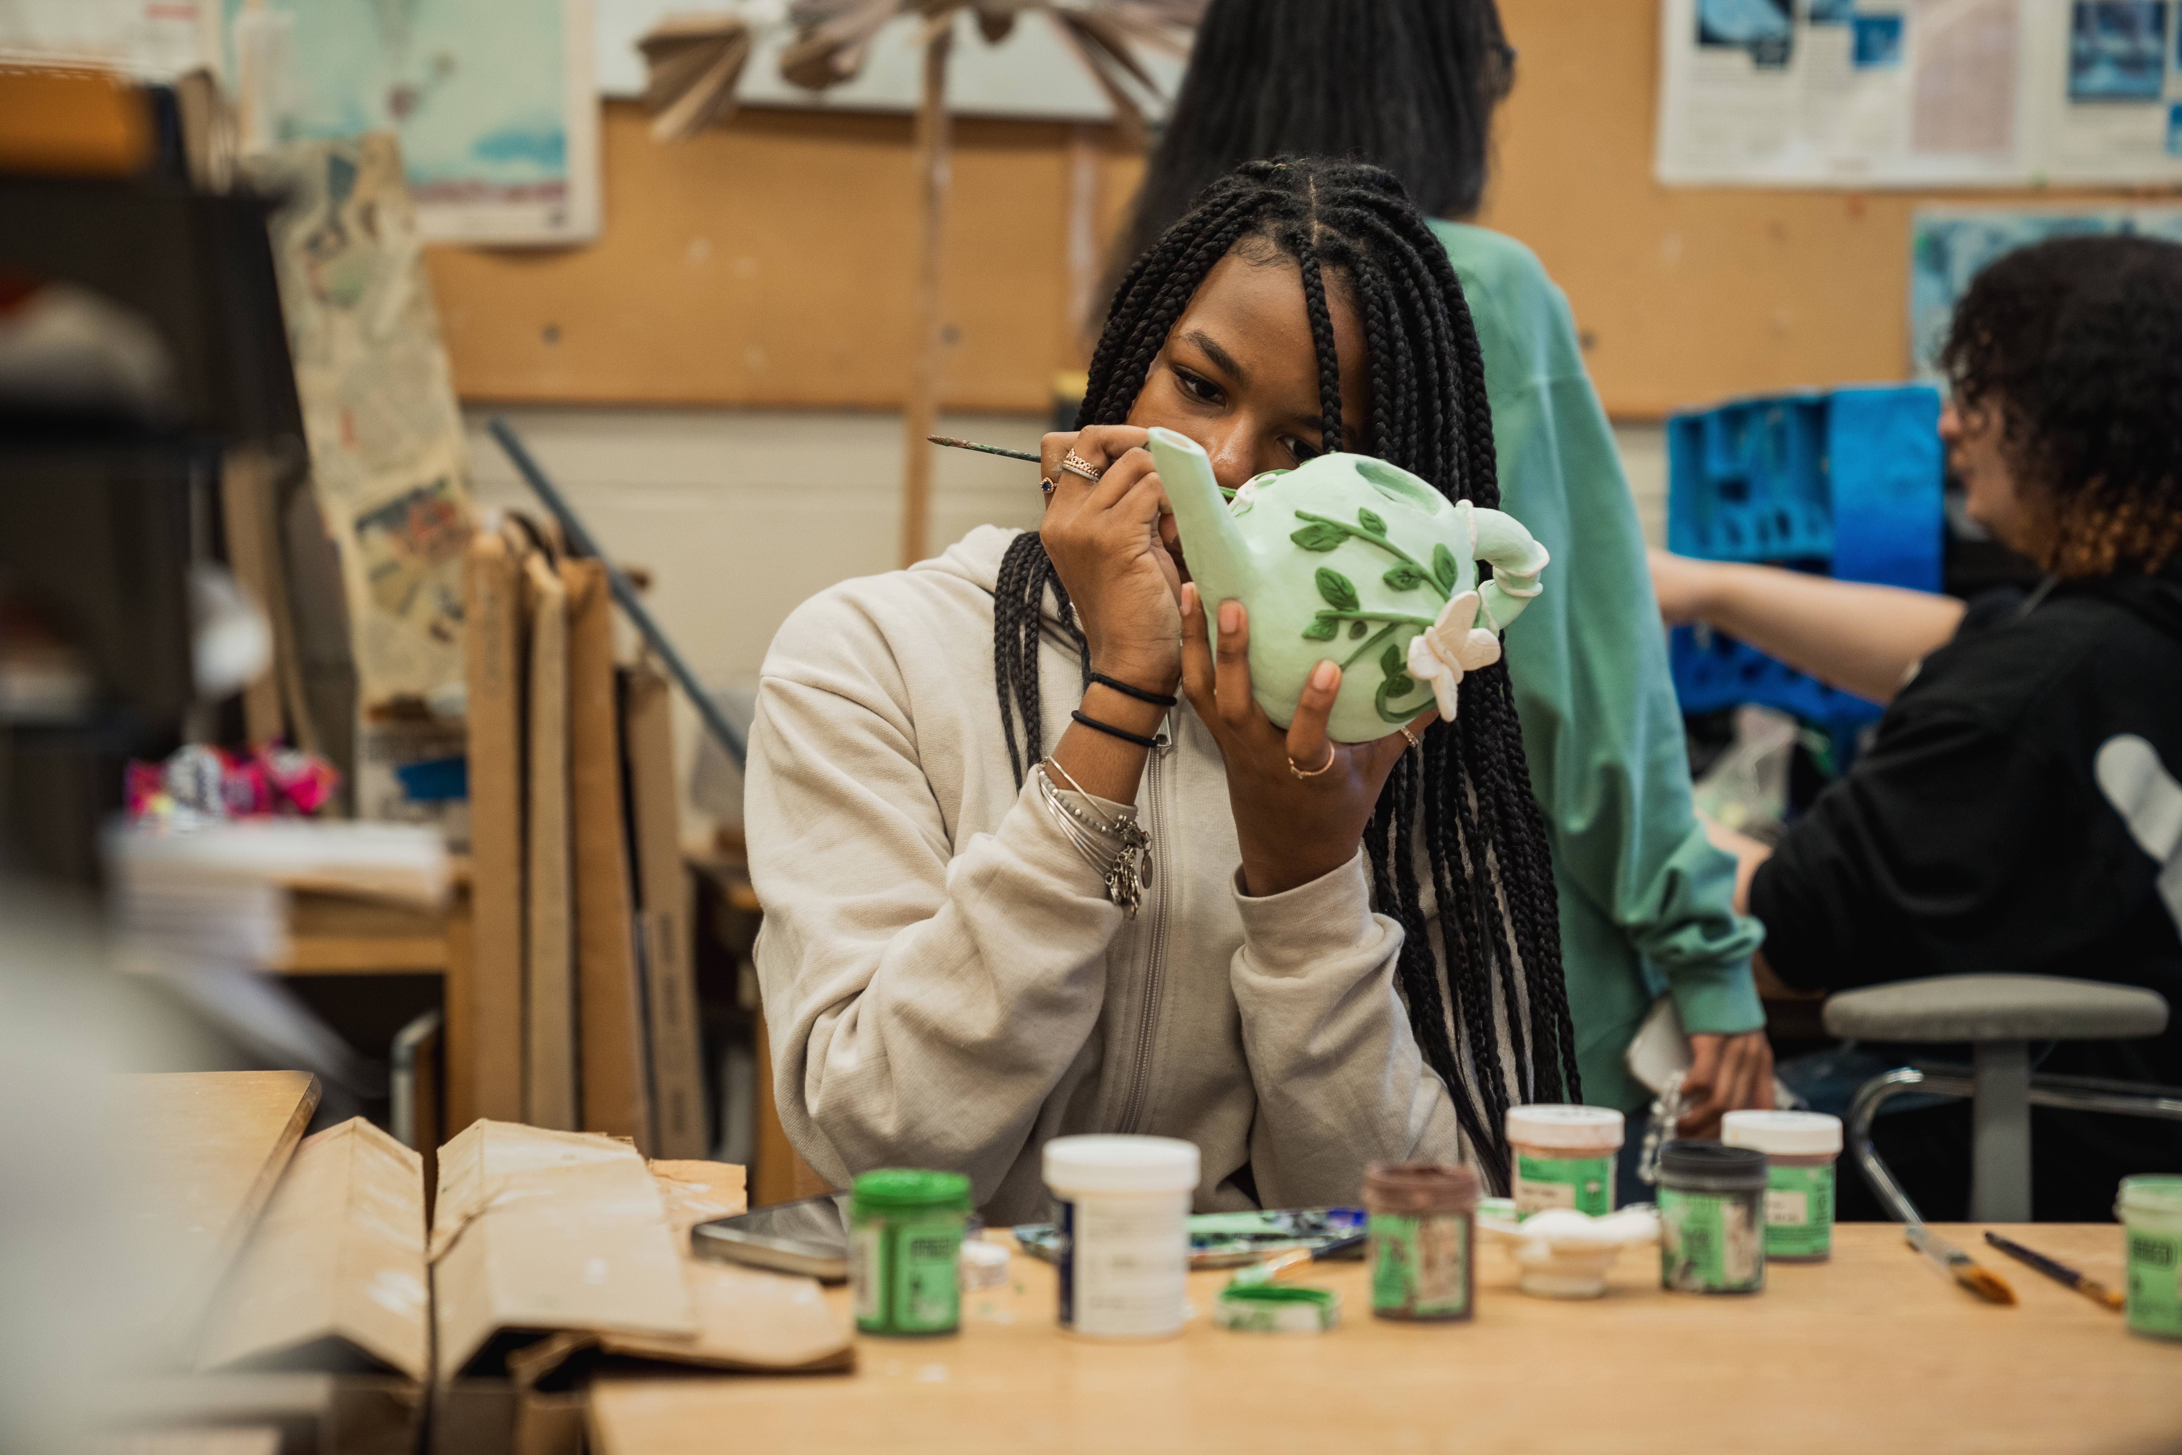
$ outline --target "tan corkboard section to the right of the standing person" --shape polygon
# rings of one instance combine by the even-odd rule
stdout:
[[[1918,203],[2119,192],[1820,192],[1652,179],[1658,0],[1501,0],[1519,50],[1484,214],[1569,292],[1606,408],[1901,380]]]

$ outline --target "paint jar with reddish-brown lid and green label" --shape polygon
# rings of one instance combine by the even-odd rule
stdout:
[[[1372,1313],[1440,1324],[1471,1318],[1477,1191],[1471,1167],[1372,1163],[1364,1171]]]

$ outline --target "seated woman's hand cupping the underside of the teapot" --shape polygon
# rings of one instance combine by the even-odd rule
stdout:
[[[1386,774],[1410,750],[1401,731],[1379,742],[1335,744],[1327,718],[1342,687],[1338,663],[1322,661],[1303,687],[1296,720],[1272,726],[1250,696],[1250,617],[1242,602],[1220,602],[1220,650],[1204,635],[1204,602],[1183,587],[1183,692],[1220,742],[1228,803],[1242,840],[1246,894],[1279,894],[1333,873],[1355,857],[1364,822]],[[1420,733],[1434,713],[1410,722]],[[1324,772],[1298,779],[1290,763]]]

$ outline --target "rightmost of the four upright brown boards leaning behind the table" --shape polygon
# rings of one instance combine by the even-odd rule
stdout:
[[[705,1065],[696,1025],[690,870],[681,857],[681,796],[674,787],[674,702],[666,674],[650,663],[622,674],[622,724],[652,1115],[659,1126],[652,1152],[705,1156]]]

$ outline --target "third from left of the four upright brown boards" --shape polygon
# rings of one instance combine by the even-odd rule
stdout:
[[[628,833],[622,820],[622,733],[613,676],[607,567],[563,561],[567,585],[567,748],[576,833],[578,1069],[587,1132],[652,1150],[644,990],[637,979]]]

